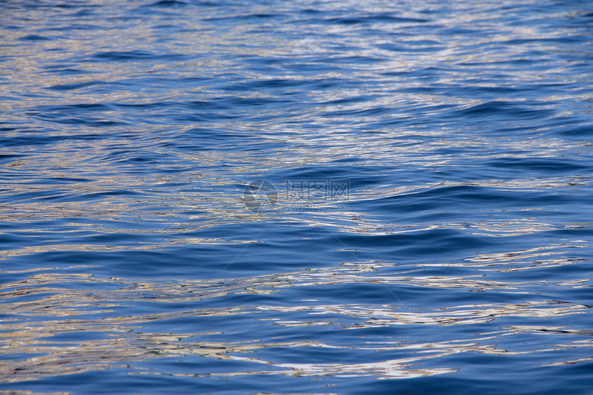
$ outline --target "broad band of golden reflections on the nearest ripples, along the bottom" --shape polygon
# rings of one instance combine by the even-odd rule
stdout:
[[[578,241],[577,241],[578,242]],[[483,254],[456,265],[468,267],[515,266],[538,267],[544,256],[563,254],[568,247],[583,247],[579,243],[536,247],[523,251]],[[561,260],[567,260],[562,259]],[[221,280],[143,280],[129,278],[99,278],[92,274],[66,274],[53,267],[39,267],[43,273],[0,286],[3,313],[10,314],[0,323],[3,334],[0,350],[3,354],[19,355],[19,359],[0,361],[0,379],[4,382],[35,380],[45,376],[74,374],[97,369],[125,367],[130,361],[170,356],[201,356],[226,361],[243,361],[254,368],[240,372],[172,373],[174,376],[237,376],[248,374],[282,374],[289,376],[374,376],[376,378],[406,378],[456,372],[456,367],[419,368],[425,360],[439,361],[440,357],[460,352],[479,352],[492,355],[515,355],[537,352],[563,352],[575,347],[592,347],[590,340],[575,339],[559,342],[554,338],[547,347],[528,346],[526,349],[502,349],[495,345],[501,336],[537,334],[548,336],[590,336],[586,330],[545,325],[512,325],[477,337],[425,343],[422,341],[320,343],[316,341],[266,341],[254,336],[248,341],[200,341],[204,336],[225,333],[212,332],[161,333],[143,332],[143,325],[154,321],[183,317],[243,316],[263,325],[278,327],[315,327],[319,325],[340,331],[357,331],[372,327],[398,325],[479,325],[503,317],[552,319],[573,314],[590,314],[590,306],[554,300],[524,301],[522,303],[478,303],[441,307],[436,310],[411,309],[405,305],[328,304],[310,299],[293,305],[244,305],[242,307],[183,308],[154,313],[121,314],[134,303],[181,303],[188,306],[207,298],[236,295],[265,295],[288,292],[292,287],[323,287],[349,284],[385,285],[398,292],[398,287],[426,287],[430,289],[461,289],[468,292],[495,290],[530,294],[538,287],[590,287],[590,278],[554,281],[491,281],[484,275],[424,276],[415,272],[421,265],[396,265],[379,261],[344,263],[339,267],[268,274],[248,278]],[[430,264],[428,264],[430,266]],[[73,267],[70,267],[71,270]],[[80,268],[83,268],[80,267]],[[400,274],[384,274],[399,270]],[[6,271],[16,274],[32,270]],[[24,299],[21,299],[24,298]],[[96,316],[96,318],[94,318]],[[43,321],[37,321],[43,318]],[[54,340],[53,336],[90,334],[85,341]],[[286,337],[286,336],[282,336]],[[493,343],[494,342],[494,343]],[[261,358],[259,351],[287,347],[316,347],[330,349],[373,350],[376,352],[405,351],[405,358],[382,359],[372,363],[307,363],[306,361],[275,361]],[[255,354],[253,354],[255,353]],[[247,356],[245,354],[253,354]],[[552,361],[559,365],[588,361],[567,358]],[[263,366],[258,368],[257,366]],[[157,371],[132,370],[132,374],[170,374]]]

